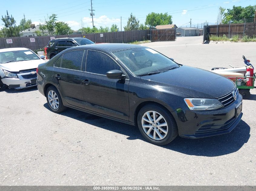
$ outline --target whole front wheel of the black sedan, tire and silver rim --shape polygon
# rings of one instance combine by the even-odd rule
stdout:
[[[155,145],[166,145],[178,135],[177,124],[173,116],[165,107],[158,104],[148,104],[142,107],[138,113],[137,124],[143,137]],[[167,125],[163,126],[164,124]]]

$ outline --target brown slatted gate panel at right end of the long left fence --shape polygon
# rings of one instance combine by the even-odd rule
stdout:
[[[152,29],[150,30],[151,41],[175,41],[176,29]]]

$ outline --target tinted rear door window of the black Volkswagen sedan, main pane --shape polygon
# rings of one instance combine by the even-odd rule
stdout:
[[[81,70],[84,50],[75,50],[63,54],[61,68]]]

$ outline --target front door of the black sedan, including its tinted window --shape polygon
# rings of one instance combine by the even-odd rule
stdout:
[[[122,70],[107,54],[89,50],[85,72],[82,73],[82,89],[85,109],[119,119],[129,118],[129,79],[109,79],[106,72]]]

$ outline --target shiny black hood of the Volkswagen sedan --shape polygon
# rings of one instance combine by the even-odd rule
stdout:
[[[141,80],[145,84],[202,98],[218,98],[235,88],[234,82],[221,75],[184,65],[167,72],[141,76]]]

